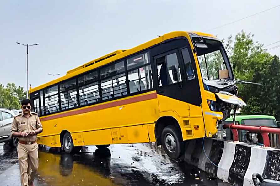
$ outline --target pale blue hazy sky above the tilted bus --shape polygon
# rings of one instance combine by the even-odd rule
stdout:
[[[201,31],[219,39],[242,29],[264,45],[280,40],[278,0],[0,1],[0,84],[26,90],[117,49],[130,49],[170,31]],[[226,23],[250,18],[217,29]],[[267,48],[279,45],[276,43]],[[269,50],[280,56],[280,47]]]

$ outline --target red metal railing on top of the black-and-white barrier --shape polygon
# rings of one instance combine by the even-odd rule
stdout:
[[[229,128],[233,134],[233,141],[239,141],[238,130],[244,130],[261,134],[264,147],[280,148],[280,128],[234,124],[223,125],[223,129],[227,128]]]

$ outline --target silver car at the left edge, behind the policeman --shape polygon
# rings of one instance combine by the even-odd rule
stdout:
[[[9,143],[11,147],[18,144],[18,139],[11,137],[10,134],[14,116],[12,111],[0,108],[0,143]]]

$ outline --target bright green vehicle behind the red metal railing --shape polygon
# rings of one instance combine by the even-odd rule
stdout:
[[[274,116],[267,115],[237,115],[235,116],[236,125],[248,125],[248,126],[266,126],[266,127],[277,127],[277,122]],[[233,116],[230,116],[228,119],[222,122],[219,125],[219,129],[223,129],[224,124],[233,123]],[[247,140],[248,131],[238,131],[239,141],[248,142]],[[254,136],[254,134],[253,134]],[[251,136],[252,137],[252,136]],[[230,129],[226,129],[224,132],[224,139],[232,140],[232,133]]]

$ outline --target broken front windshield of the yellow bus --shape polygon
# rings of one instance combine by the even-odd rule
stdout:
[[[231,78],[228,71],[229,62],[225,60],[221,42],[211,39],[203,39],[202,42],[203,45],[196,44],[202,78],[204,80]]]

